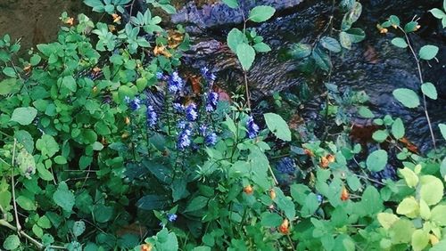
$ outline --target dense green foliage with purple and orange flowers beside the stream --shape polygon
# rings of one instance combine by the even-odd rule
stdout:
[[[26,59],[20,41],[0,39],[3,249],[446,249],[446,125],[429,120],[438,93],[423,76],[440,49],[414,47],[417,19],[390,16],[376,32],[394,33],[394,49],[417,62],[419,90],[392,94],[424,110],[433,148],[422,153],[400,117],[376,117],[366,93],[330,82],[332,58],[367,39],[353,28],[358,1],[334,1],[314,43],[290,48],[324,78],[319,112],[336,132],[321,136],[290,129],[279,111],[253,112],[247,72],[271,48],[250,24],[274,8],[256,6],[228,31],[244,72],[244,93],[229,97],[210,69],[181,70],[190,38],[154,14],[175,12],[169,1],[136,13],[136,1],[84,2],[103,19],[62,13],[56,41]],[[430,12],[444,24],[442,8]],[[373,119],[371,147],[351,138],[353,116]]]

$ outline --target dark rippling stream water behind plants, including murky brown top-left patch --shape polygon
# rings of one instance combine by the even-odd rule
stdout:
[[[63,11],[71,14],[87,12],[78,0],[0,0],[0,34],[10,33],[12,37],[22,38],[25,48],[39,43],[50,42],[57,32],[58,17]],[[241,83],[242,71],[235,55],[226,45],[227,32],[240,22],[240,12],[231,11],[222,4],[199,4],[197,7],[188,1],[179,2],[178,15],[172,22],[189,24],[194,38],[193,49],[186,54],[188,67],[207,66],[214,70],[219,85],[227,90],[235,90],[236,83]],[[181,3],[183,2],[183,3]],[[203,2],[203,1],[200,1]],[[211,1],[211,3],[218,1]],[[251,0],[242,1],[246,8],[253,4]],[[256,3],[259,1],[256,1]],[[299,95],[301,85],[309,85],[314,93],[322,92],[322,83],[318,79],[302,77],[297,69],[298,61],[285,58],[284,53],[297,42],[311,43],[324,28],[330,15],[331,1],[299,0],[261,0],[275,5],[280,12],[266,23],[256,27],[265,42],[273,48],[272,52],[261,54],[255,61],[248,78],[252,88],[252,97],[260,101],[274,92]],[[271,2],[271,3],[269,3]],[[368,0],[363,2],[363,13],[357,27],[366,31],[367,38],[355,45],[350,52],[333,57],[334,69],[331,82],[341,90],[351,87],[364,90],[370,96],[369,105],[377,116],[391,114],[402,117],[408,126],[409,141],[415,142],[421,150],[431,148],[429,131],[423,109],[405,109],[392,98],[392,90],[407,87],[419,90],[416,64],[406,50],[390,44],[392,33],[385,36],[376,30],[376,23],[385,20],[391,14],[397,14],[401,20],[408,21],[415,14],[421,16],[422,28],[412,36],[415,47],[425,43],[440,47],[437,63],[423,64],[425,81],[437,86],[439,99],[428,101],[428,110],[434,124],[437,138],[441,138],[438,127],[446,121],[446,32],[426,11],[434,6],[441,6],[442,1],[386,1]],[[335,23],[338,25],[338,22]],[[322,73],[321,73],[322,74]],[[315,119],[321,106],[320,99],[314,98],[305,104],[302,117]],[[312,110],[314,109],[314,110]],[[317,116],[316,116],[317,117]],[[440,141],[439,141],[440,142]],[[443,141],[442,141],[443,142]]]

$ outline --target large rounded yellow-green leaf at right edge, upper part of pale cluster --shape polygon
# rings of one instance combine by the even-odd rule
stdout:
[[[425,200],[427,205],[435,205],[442,200],[444,186],[442,181],[433,175],[420,177],[420,198]]]

